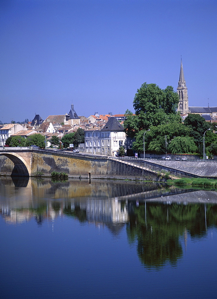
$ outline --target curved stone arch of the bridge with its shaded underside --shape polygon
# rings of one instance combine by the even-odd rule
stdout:
[[[11,176],[30,176],[30,167],[20,155],[8,152],[1,152],[0,154],[6,156],[13,162],[14,168]]]

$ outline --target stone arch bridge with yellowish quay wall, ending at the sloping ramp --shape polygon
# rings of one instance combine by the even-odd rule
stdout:
[[[165,181],[164,173],[160,175],[151,167],[109,156],[28,147],[0,149],[1,175],[50,177],[53,171],[66,173],[70,178]]]

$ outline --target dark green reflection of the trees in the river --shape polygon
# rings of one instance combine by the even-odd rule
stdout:
[[[130,203],[127,236],[137,242],[138,257],[148,269],[160,269],[166,263],[176,266],[182,257],[181,237],[206,236],[206,225],[217,224],[216,205],[164,205],[162,203]]]

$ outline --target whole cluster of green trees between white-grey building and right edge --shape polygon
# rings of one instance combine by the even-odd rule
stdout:
[[[137,152],[143,152],[145,147],[145,151],[156,154],[167,150],[172,154],[203,156],[204,132],[210,129],[205,134],[206,154],[209,158],[217,155],[215,123],[206,122],[199,114],[189,114],[182,122],[178,102],[172,86],[160,89],[153,83],[142,84],[133,100],[135,114],[125,112],[125,132],[135,138],[132,148]]]

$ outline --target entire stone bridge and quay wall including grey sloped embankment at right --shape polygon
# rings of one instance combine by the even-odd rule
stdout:
[[[53,171],[70,178],[131,179],[165,181],[165,173],[178,177],[217,178],[217,163],[153,161],[112,158],[55,149],[11,147],[0,149],[0,175],[47,176]]]

